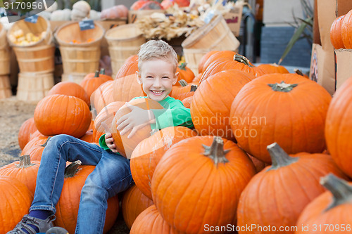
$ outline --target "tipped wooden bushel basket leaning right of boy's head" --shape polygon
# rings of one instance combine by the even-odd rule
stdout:
[[[216,15],[182,42],[187,66],[198,74],[199,60],[208,51],[237,51],[239,40],[234,37],[222,15]]]

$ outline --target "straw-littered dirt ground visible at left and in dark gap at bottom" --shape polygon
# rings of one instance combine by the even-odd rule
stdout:
[[[17,161],[20,155],[18,131],[26,119],[33,117],[37,103],[17,100],[15,96],[0,99],[0,167]],[[115,225],[107,234],[130,233],[119,212]]]

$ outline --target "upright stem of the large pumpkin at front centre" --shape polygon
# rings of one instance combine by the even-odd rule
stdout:
[[[213,143],[208,146],[208,145],[203,145],[204,152],[203,155],[206,155],[210,157],[215,163],[215,166],[218,166],[219,162],[226,163],[229,162],[225,155],[227,152],[230,150],[224,150],[224,141],[222,141],[222,138],[220,136],[214,136],[214,141]]]

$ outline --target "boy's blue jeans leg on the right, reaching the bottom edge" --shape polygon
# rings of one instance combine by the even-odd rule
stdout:
[[[103,233],[108,198],[126,190],[132,183],[130,160],[113,152],[103,152],[82,188],[75,233]]]

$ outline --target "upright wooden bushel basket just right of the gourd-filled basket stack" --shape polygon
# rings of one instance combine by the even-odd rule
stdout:
[[[79,83],[86,74],[99,70],[104,32],[103,27],[95,22],[94,29],[90,30],[80,30],[78,22],[68,22],[56,30],[55,38],[63,61],[63,78],[75,74],[78,76],[75,82]]]

